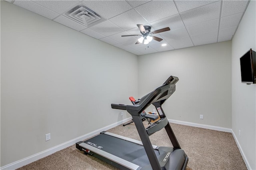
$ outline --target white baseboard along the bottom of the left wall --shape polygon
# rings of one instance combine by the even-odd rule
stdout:
[[[113,127],[116,127],[118,125],[121,125],[121,124],[123,124],[123,123],[125,123],[127,121],[130,121],[131,119],[132,119],[131,117],[123,119],[122,121],[118,121],[116,123],[113,123],[113,124],[108,125],[106,127],[100,128],[98,130],[95,130],[93,132],[90,132],[88,134],[80,136],[78,138],[72,139],[72,140],[70,140],[68,142],[65,142],[65,143],[59,144],[57,146],[54,146],[53,148],[44,150],[42,152],[39,152],[37,154],[34,154],[34,155],[29,156],[27,158],[24,158],[22,160],[18,160],[16,162],[13,162],[11,164],[3,166],[3,167],[0,168],[0,170],[14,170],[14,169],[20,168],[20,167],[22,167],[24,165],[30,164],[31,162],[34,162],[34,161],[38,160],[38,159],[41,159],[41,158],[44,158],[44,157],[46,157],[46,156],[48,156],[50,154],[53,154],[54,152],[57,152],[57,151],[62,150],[64,148],[67,148],[67,147],[75,144],[76,142],[79,142],[79,141],[84,140],[86,138],[90,138],[90,137],[92,137],[92,136],[94,136],[96,134],[99,134],[100,132],[102,132],[104,130],[108,130],[110,128],[113,128]]]

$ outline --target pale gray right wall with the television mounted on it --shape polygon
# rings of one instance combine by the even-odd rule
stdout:
[[[256,84],[241,83],[240,57],[250,48],[256,51],[255,11],[256,1],[250,1],[232,40],[232,129],[253,170],[256,169]]]

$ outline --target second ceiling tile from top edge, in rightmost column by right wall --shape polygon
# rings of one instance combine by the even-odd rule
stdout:
[[[238,26],[243,13],[220,18],[220,29]]]

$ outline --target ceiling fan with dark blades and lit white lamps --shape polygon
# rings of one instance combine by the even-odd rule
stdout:
[[[142,36],[142,37],[140,37],[138,39],[138,41],[135,44],[138,44],[138,43],[148,44],[149,42],[152,41],[152,39],[154,39],[154,40],[156,40],[158,42],[163,40],[162,38],[158,38],[158,37],[152,36],[152,34],[157,34],[157,33],[160,33],[160,32],[170,31],[170,28],[166,27],[166,28],[162,28],[162,29],[150,32],[151,31],[151,27],[150,26],[143,26],[142,24],[137,24],[137,26],[140,29],[141,35],[139,35],[139,34],[136,34],[136,35],[124,35],[124,36],[121,36],[121,37]]]

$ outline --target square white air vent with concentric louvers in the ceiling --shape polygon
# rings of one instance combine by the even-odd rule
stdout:
[[[82,4],[66,12],[65,16],[86,27],[93,26],[106,20],[105,18]]]

